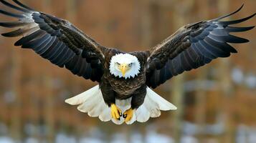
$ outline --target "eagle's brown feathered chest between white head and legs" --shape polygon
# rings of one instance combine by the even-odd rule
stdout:
[[[139,89],[146,83],[145,74],[138,74],[133,79],[116,78],[109,75],[108,82],[112,87],[113,91],[117,93],[117,98],[125,99],[135,94],[136,90]]]

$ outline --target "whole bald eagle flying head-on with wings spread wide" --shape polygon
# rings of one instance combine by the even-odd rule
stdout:
[[[182,26],[166,40],[148,51],[123,52],[101,46],[77,29],[69,21],[35,11],[17,0],[0,0],[1,4],[19,11],[0,10],[1,14],[16,21],[1,22],[0,26],[16,28],[2,36],[21,36],[15,46],[32,49],[52,64],[69,69],[72,74],[99,84],[65,102],[78,105],[80,112],[99,117],[103,122],[115,124],[146,122],[159,117],[161,110],[174,110],[174,104],[160,97],[156,88],[184,71],[196,69],[218,57],[237,53],[229,43],[245,43],[230,32],[248,31],[254,26],[235,27],[252,18],[223,21],[217,19],[199,21]]]

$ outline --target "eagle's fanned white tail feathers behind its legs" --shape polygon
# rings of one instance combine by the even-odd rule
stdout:
[[[150,117],[159,117],[161,110],[174,110],[177,109],[174,104],[166,101],[160,97],[156,92],[153,92],[150,88],[147,88],[146,97],[143,104],[136,110],[134,110],[133,118],[126,124],[133,124],[133,122],[146,122]],[[65,100],[68,104],[79,105],[77,109],[80,112],[87,112],[90,117],[99,117],[103,122],[112,120],[115,124],[123,124],[125,119],[123,117],[120,120],[111,119],[110,107],[105,104],[100,87],[97,85],[92,89],[83,92],[75,97]],[[116,99],[115,104],[120,110],[125,112],[131,108],[131,98],[120,100]]]

